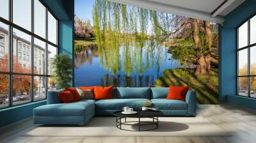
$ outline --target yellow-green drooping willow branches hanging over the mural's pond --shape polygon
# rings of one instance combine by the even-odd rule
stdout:
[[[106,70],[111,70],[113,74],[122,70],[128,75],[134,72],[142,75],[144,70],[154,66],[149,65],[149,59],[154,59],[152,62],[161,64],[162,57],[150,53],[154,50],[163,51],[157,44],[160,42],[156,40],[163,41],[164,36],[167,35],[166,29],[161,26],[163,20],[160,20],[159,15],[163,13],[106,0],[95,0],[93,29],[100,55],[100,65]],[[167,21],[172,20],[165,20]],[[151,42],[148,43],[148,40]],[[151,50],[143,51],[143,47],[149,44],[151,44]],[[143,58],[147,59],[146,62]]]

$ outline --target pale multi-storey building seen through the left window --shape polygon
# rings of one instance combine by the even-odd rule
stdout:
[[[9,53],[8,38],[8,31],[3,27],[0,27],[0,60],[4,59],[4,55]],[[48,52],[48,54],[50,53],[51,52]],[[16,36],[15,33],[13,33],[13,56],[16,56],[17,61],[22,68],[31,68],[31,42]],[[33,62],[34,70],[37,71],[36,74],[45,75],[45,48],[35,45]],[[42,88],[45,88],[45,78],[38,80],[38,91],[42,91]]]

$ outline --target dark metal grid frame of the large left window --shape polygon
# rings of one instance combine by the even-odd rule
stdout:
[[[45,59],[46,59],[46,65],[45,67],[48,66],[48,56],[47,56],[47,52],[48,52],[48,44],[49,45],[52,45],[53,47],[56,47],[57,49],[57,55],[59,54],[59,47],[58,47],[58,33],[59,33],[59,27],[58,27],[58,24],[59,24],[59,19],[56,17],[56,15],[54,15],[54,13],[51,11],[51,9],[46,6],[46,4],[42,1],[42,0],[38,0],[43,6],[45,6],[45,38],[44,37],[41,37],[39,36],[38,34],[35,34],[34,32],[34,24],[35,24],[35,19],[34,19],[34,14],[35,14],[35,9],[34,9],[34,1],[35,0],[31,0],[31,31],[13,23],[13,0],[9,0],[8,1],[8,6],[9,6],[9,19],[6,20],[4,19],[3,17],[0,17],[0,22],[2,22],[3,24],[7,24],[8,25],[8,28],[9,28],[9,31],[8,31],[8,50],[9,50],[9,70],[8,72],[1,72],[0,71],[0,74],[6,74],[8,75],[8,106],[6,107],[0,107],[0,110],[1,109],[6,109],[6,108],[10,108],[10,107],[15,107],[15,106],[19,106],[19,105],[24,105],[24,104],[28,104],[28,103],[31,103],[31,102],[40,102],[42,100],[46,100],[47,99],[47,91],[48,91],[48,80],[49,80],[49,77],[51,77],[51,75],[48,74],[48,69],[46,68],[46,71],[45,71],[45,74],[42,73],[42,74],[36,74],[34,73],[34,38],[37,38],[38,40],[41,40],[41,41],[44,41],[45,42]],[[56,19],[56,36],[57,36],[57,43],[54,44],[52,43],[51,41],[48,40],[48,11],[49,13],[51,13],[51,15],[54,17],[54,19]],[[31,72],[30,73],[17,73],[17,72],[13,72],[13,28],[23,32],[23,33],[26,33],[26,34],[29,34],[31,36],[31,54],[29,54],[29,62],[31,62]],[[18,43],[17,43],[18,44]],[[19,51],[19,47],[16,47],[17,48],[17,51]],[[23,45],[21,45],[21,48],[23,48]],[[26,50],[26,49],[25,49]],[[23,49],[21,49],[21,52],[23,51]],[[23,53],[23,52],[22,52]],[[25,51],[26,53],[26,51]],[[26,54],[27,56],[27,54]],[[18,57],[17,57],[18,58]],[[23,57],[22,57],[23,58]],[[13,75],[29,75],[30,78],[31,78],[31,87],[30,87],[30,95],[31,96],[31,99],[30,101],[26,102],[26,103],[20,103],[20,104],[17,104],[17,105],[13,105],[13,92],[12,92],[12,88],[13,88]],[[33,92],[34,91],[34,77],[45,77],[45,82],[46,82],[46,85],[45,85],[45,98],[44,99],[40,99],[40,100],[35,100],[34,97],[35,97],[35,93]]]

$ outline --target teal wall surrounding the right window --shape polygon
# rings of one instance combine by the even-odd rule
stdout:
[[[225,17],[220,29],[220,102],[229,102],[251,109],[256,100],[236,96],[236,27],[256,14],[256,0],[246,0]],[[254,104],[254,105],[253,105]]]

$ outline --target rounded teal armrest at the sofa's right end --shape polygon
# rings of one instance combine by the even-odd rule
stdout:
[[[196,115],[196,91],[188,91],[186,94],[186,103],[188,103],[188,115]]]

